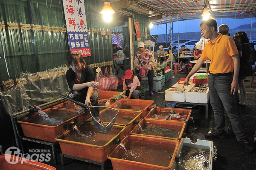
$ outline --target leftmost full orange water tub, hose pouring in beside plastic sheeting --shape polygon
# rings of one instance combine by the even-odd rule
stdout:
[[[82,114],[77,114],[76,109],[64,109],[64,108],[53,108],[43,110],[49,118],[59,117],[57,125],[52,125],[50,121],[44,121],[38,114],[27,114],[24,117],[18,118],[23,133],[26,137],[40,139],[43,141],[56,142],[55,136],[61,134],[65,130],[68,130],[71,125],[70,122],[86,121],[89,117],[90,112],[86,110]]]

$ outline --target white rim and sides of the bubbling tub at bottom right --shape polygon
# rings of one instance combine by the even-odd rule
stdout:
[[[175,160],[178,160],[180,157],[180,154],[182,152],[183,147],[193,147],[203,150],[209,150],[209,155],[207,157],[209,158],[209,164],[208,167],[204,167],[204,170],[212,170],[212,157],[213,157],[213,142],[212,141],[206,141],[206,140],[200,140],[198,139],[196,143],[192,143],[190,138],[181,138],[180,140],[180,147],[177,152],[177,155],[175,157]],[[174,161],[172,170],[175,170],[176,168],[176,161]]]

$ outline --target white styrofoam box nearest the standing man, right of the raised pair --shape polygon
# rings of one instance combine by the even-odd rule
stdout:
[[[205,84],[208,85],[208,84]],[[191,89],[195,88],[195,84],[193,84]],[[206,92],[190,92],[187,91],[185,93],[186,102],[188,103],[208,103],[209,101],[209,88]]]

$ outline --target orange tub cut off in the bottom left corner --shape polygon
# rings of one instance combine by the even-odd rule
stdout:
[[[11,161],[14,164],[9,163]],[[1,170],[56,170],[47,164],[37,161],[31,161],[13,155],[0,155],[0,169]]]

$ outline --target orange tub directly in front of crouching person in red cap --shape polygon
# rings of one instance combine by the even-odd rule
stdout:
[[[142,110],[141,117],[143,118],[151,109],[153,100],[140,100],[140,99],[120,99],[111,104],[112,108]]]

